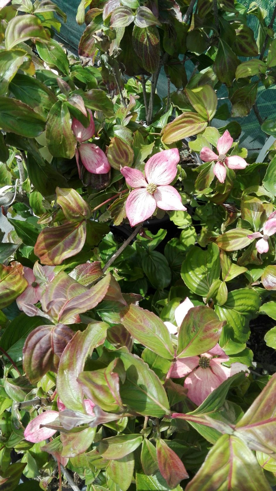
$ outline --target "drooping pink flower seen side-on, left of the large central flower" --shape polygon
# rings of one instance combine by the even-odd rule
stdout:
[[[78,119],[73,118],[72,130],[77,138],[78,144],[75,152],[76,161],[81,177],[80,159],[88,172],[91,174],[106,174],[110,171],[110,164],[103,150],[94,143],[83,143],[89,140],[95,133],[95,124],[90,109],[87,109],[90,114],[90,123],[87,128],[84,128]]]

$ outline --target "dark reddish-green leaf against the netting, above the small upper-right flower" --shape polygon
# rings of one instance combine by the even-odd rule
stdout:
[[[244,117],[249,114],[256,101],[258,84],[259,81],[251,82],[234,92],[230,98],[232,104],[231,116],[233,118]]]

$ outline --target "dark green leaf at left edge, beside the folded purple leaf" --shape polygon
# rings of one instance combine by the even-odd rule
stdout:
[[[28,317],[24,313],[16,316],[9,327],[4,330],[0,346],[11,356],[13,361],[22,360],[22,350],[28,334],[43,323],[45,323],[45,319],[41,317]]]

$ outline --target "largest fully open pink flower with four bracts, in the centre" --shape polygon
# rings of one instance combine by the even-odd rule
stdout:
[[[176,176],[179,162],[177,148],[153,155],[145,164],[145,177],[138,169],[121,167],[121,173],[132,188],[128,196],[126,214],[131,226],[150,218],[158,206],[162,210],[183,210],[180,194],[168,186]]]

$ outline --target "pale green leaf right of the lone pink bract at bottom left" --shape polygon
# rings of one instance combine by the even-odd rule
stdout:
[[[85,452],[93,442],[95,433],[96,428],[84,428],[83,431],[78,433],[61,434],[62,457],[73,458]]]

